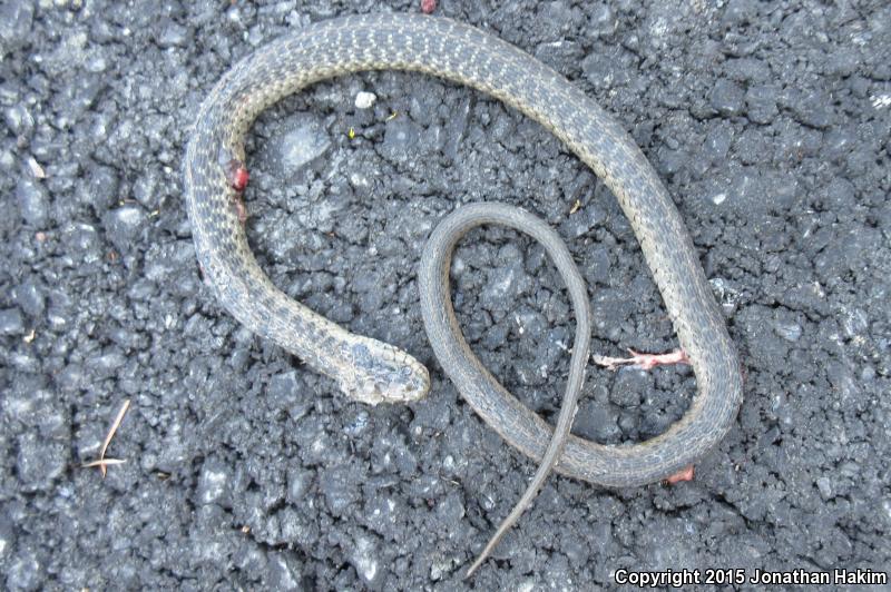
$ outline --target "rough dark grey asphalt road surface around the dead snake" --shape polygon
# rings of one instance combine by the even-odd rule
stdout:
[[[427,343],[415,268],[437,220],[471,201],[526,207],[582,269],[596,353],[676,341],[615,198],[558,140],[483,95],[393,72],[263,114],[247,234],[294,298],[427,364],[428,398],[353,403],[217,306],[182,195],[199,102],[288,30],[388,10],[420,8],[0,6],[4,586],[572,590],[620,570],[891,570],[891,8],[437,8],[549,63],[633,135],[687,224],[746,381],[695,481],[607,491],[554,476],[469,583],[535,467],[463,404]],[[474,231],[453,280],[474,351],[554,416],[574,325],[541,248]],[[694,392],[683,367],[591,367],[574,432],[642,441]],[[80,464],[125,399],[106,455],[126,463],[104,480]]]

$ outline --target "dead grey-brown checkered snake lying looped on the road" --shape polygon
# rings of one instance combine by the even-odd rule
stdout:
[[[540,463],[515,511],[529,503],[551,468],[607,489],[635,487],[666,478],[716,446],[742,404],[740,362],[668,191],[623,127],[582,90],[517,47],[448,18],[379,13],[320,21],[246,56],[214,86],[197,109],[183,174],[198,264],[223,307],[255,334],[332,377],[356,401],[409,403],[430,389],[429,372],[410,354],[352,334],[278,289],[252,254],[239,208],[247,178],[244,138],[256,117],[310,85],[366,70],[417,71],[477,89],[561,140],[618,200],[693,367],[696,395],[663,434],[618,445],[570,434],[590,334],[587,299],[576,294],[571,279],[571,256],[556,244],[561,243],[558,235],[521,210],[496,204],[459,207],[424,248],[418,272],[422,316],[433,352],[464,401],[511,446]],[[546,246],[570,287],[577,355],[556,428],[501,386],[461,334],[449,267],[454,244],[477,224],[505,224],[530,234]],[[585,332],[587,337],[579,336]],[[513,514],[511,520],[518,517]],[[502,522],[496,537],[510,524]]]

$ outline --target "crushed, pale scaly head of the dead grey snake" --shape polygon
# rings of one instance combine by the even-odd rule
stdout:
[[[351,364],[340,376],[340,387],[351,398],[371,405],[408,403],[430,389],[427,368],[392,345],[363,338],[345,349]]]

